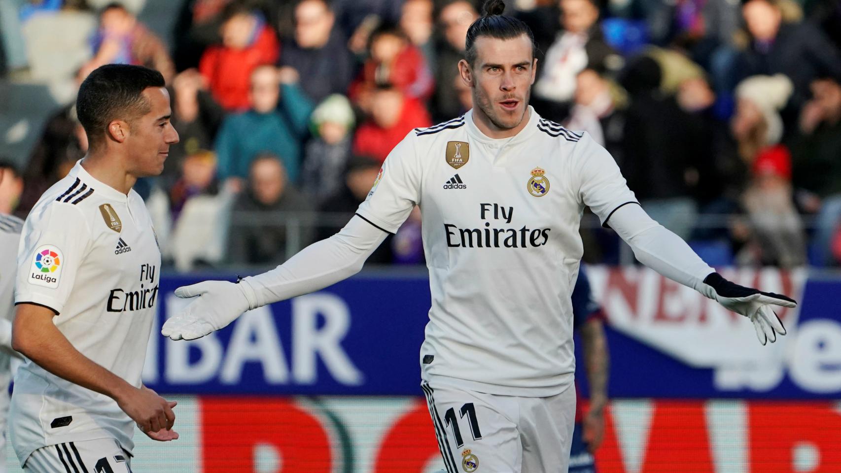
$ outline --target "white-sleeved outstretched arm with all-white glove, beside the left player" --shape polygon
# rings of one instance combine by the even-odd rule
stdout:
[[[355,215],[344,229],[301,250],[272,271],[238,283],[204,281],[179,287],[177,297],[196,297],[170,318],[161,334],[173,340],[198,339],[224,328],[241,313],[301,296],[357,274],[388,233]]]

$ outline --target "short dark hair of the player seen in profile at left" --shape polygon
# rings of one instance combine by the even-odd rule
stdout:
[[[131,122],[149,113],[143,97],[148,87],[164,87],[163,76],[143,66],[107,64],[91,72],[79,87],[76,113],[90,147],[99,145],[103,132],[114,120]]]

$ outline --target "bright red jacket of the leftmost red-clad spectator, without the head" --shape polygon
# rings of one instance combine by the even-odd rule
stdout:
[[[207,79],[210,92],[225,110],[247,110],[251,71],[278,60],[280,45],[272,29],[259,24],[257,30],[254,40],[245,48],[211,46],[198,63],[198,71]]]

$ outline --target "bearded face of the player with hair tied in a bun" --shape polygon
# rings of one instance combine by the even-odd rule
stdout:
[[[473,66],[466,60],[458,64],[463,81],[473,89],[473,113],[492,132],[516,129],[526,116],[535,78],[531,39],[526,34],[513,39],[481,36],[474,46]]]

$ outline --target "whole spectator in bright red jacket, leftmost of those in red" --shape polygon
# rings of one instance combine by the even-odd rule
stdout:
[[[223,18],[222,45],[204,51],[198,71],[225,110],[242,112],[250,106],[251,71],[257,66],[274,64],[280,46],[262,13],[246,3],[230,3]]]

